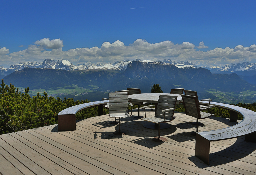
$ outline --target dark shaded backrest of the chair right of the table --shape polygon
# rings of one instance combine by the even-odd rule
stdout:
[[[181,95],[186,115],[201,118],[200,106],[197,97]]]

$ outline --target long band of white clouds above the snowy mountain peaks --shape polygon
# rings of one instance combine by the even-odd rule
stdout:
[[[125,45],[122,41],[102,43],[101,47],[82,47],[62,50],[63,43],[60,39],[50,40],[49,38],[36,41],[29,45],[27,49],[9,53],[9,49],[0,49],[0,60],[9,65],[14,65],[22,61],[43,61],[45,58],[61,60],[66,59],[73,64],[84,64],[88,61],[115,62],[126,59],[136,60],[164,60],[191,61],[197,66],[222,66],[234,62],[256,62],[256,45],[249,47],[238,45],[234,48],[224,49],[216,47],[208,51],[198,51],[193,43],[183,42],[174,44],[172,41],[162,41],[149,43],[144,39],[136,39],[133,43]],[[50,50],[45,50],[50,48]],[[199,43],[199,48],[208,48],[203,41]],[[9,54],[9,55],[7,55]],[[1,64],[0,64],[1,65]],[[3,65],[5,66],[5,65]]]

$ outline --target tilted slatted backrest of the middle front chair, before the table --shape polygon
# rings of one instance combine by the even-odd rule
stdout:
[[[170,95],[163,95],[160,94],[158,99],[158,104],[156,107],[156,117],[164,118],[164,113],[162,110],[169,109],[169,108],[175,108],[177,96],[170,96]],[[165,112],[165,118],[166,119],[172,119],[174,114],[174,110]]]

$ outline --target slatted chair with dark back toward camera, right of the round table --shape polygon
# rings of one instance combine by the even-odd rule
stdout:
[[[207,109],[208,108],[214,108],[214,106],[213,105],[209,105],[209,106],[202,106],[202,107],[200,107],[199,101],[198,101],[197,97],[183,95],[183,94],[181,95],[181,97],[182,97],[182,100],[183,100],[183,104],[184,104],[186,115],[197,118],[197,121],[196,121],[196,125],[197,125],[196,132],[198,132],[198,119],[204,119],[204,118],[208,118],[208,117],[214,116],[214,114],[212,114],[212,111],[211,111],[211,114],[209,114],[207,112],[201,112],[201,110],[203,110],[205,108],[207,108]],[[193,131],[190,134],[195,136],[196,132]]]

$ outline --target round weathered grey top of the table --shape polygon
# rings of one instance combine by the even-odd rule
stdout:
[[[145,94],[133,94],[129,95],[128,99],[131,102],[147,102],[147,103],[158,103],[159,95],[170,95],[178,96],[177,101],[182,101],[181,95],[178,94],[167,94],[167,93],[145,93]]]

